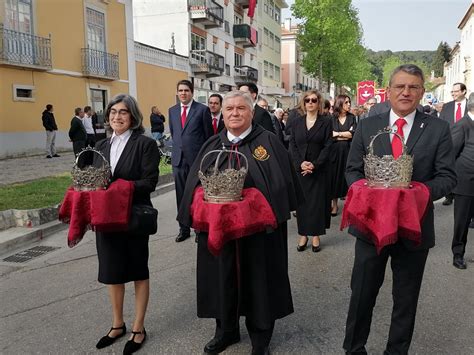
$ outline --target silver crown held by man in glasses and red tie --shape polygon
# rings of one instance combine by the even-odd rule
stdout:
[[[394,134],[402,142],[402,154],[395,159],[393,155],[379,157],[374,154],[374,141],[382,134]],[[404,138],[392,128],[386,127],[372,137],[369,153],[364,156],[364,172],[370,187],[410,187],[413,174],[413,157],[407,154]]]

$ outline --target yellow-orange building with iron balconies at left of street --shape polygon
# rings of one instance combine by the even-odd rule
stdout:
[[[75,107],[99,114],[117,93],[136,95],[131,0],[0,2],[0,158],[42,151],[41,113],[54,106],[56,145]]]

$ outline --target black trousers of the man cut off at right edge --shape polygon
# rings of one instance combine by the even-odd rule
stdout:
[[[474,196],[455,195],[454,231],[451,249],[454,256],[464,256],[469,223],[474,217]]]

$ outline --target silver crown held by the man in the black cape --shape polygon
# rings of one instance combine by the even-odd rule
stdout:
[[[219,170],[220,162],[224,156],[228,157],[228,162],[225,168]],[[211,164],[209,169],[203,172],[203,162],[211,157],[215,157],[214,165]],[[242,164],[243,162],[245,164]],[[238,169],[235,169],[234,166],[237,166]],[[201,160],[198,172],[204,189],[204,199],[212,203],[240,201],[247,171],[247,157],[238,151],[228,150],[222,145],[222,149],[206,153]]]

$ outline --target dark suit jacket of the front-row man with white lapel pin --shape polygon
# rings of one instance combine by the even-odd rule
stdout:
[[[350,186],[363,179],[364,160],[368,153],[371,137],[390,123],[389,112],[370,116],[359,122],[352,139],[347,158],[346,180]],[[378,143],[377,143],[378,142]],[[388,134],[377,138],[374,144],[377,155],[391,155],[392,146]],[[431,201],[437,200],[451,192],[456,185],[454,171],[454,151],[449,125],[421,112],[417,112],[413,127],[407,140],[408,154],[413,156],[413,181],[424,183],[430,190]],[[349,233],[357,238],[372,243],[370,239],[350,227]],[[430,203],[421,226],[421,245],[416,247],[412,241],[401,238],[407,249],[427,249],[435,244],[433,204]]]

